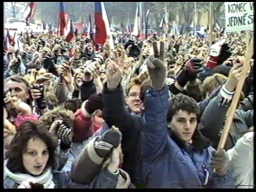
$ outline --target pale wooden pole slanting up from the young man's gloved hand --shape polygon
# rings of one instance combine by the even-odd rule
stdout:
[[[237,104],[239,102],[241,91],[243,89],[244,82],[245,82],[245,79],[246,79],[246,73],[247,73],[248,70],[250,70],[250,67],[251,67],[250,66],[250,61],[251,61],[251,58],[252,58],[252,55],[253,55],[253,44],[254,44],[253,40],[254,39],[253,39],[253,36],[252,36],[251,42],[249,43],[249,46],[248,46],[248,51],[247,51],[247,56],[246,56],[246,59],[245,59],[245,63],[243,65],[243,69],[241,71],[241,77],[238,81],[236,91],[235,91],[235,95],[234,95],[234,97],[232,99],[232,102],[231,102],[231,106],[229,107],[229,110],[227,112],[227,117],[228,118],[225,122],[224,130],[223,130],[223,133],[221,135],[220,142],[219,142],[217,150],[224,149],[226,141],[227,141],[228,133],[229,133],[231,124],[233,122],[233,117],[234,117],[234,114],[235,114],[235,110],[236,110]]]

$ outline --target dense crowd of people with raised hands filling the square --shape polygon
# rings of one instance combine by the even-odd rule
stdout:
[[[217,150],[248,36],[213,37],[21,33],[4,49],[4,188],[253,188],[253,59]]]

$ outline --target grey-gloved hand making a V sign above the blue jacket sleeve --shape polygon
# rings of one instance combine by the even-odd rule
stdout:
[[[151,79],[153,90],[158,91],[164,87],[167,77],[167,65],[164,58],[164,42],[160,41],[160,53],[158,52],[157,42],[153,42],[154,55],[147,61],[148,72]]]

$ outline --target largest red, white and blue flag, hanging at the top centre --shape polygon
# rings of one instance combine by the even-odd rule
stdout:
[[[95,25],[96,25],[96,34],[95,34],[96,43],[103,45],[106,41],[109,41],[110,48],[114,49],[114,42],[111,35],[111,30],[110,30],[104,2],[95,2]]]

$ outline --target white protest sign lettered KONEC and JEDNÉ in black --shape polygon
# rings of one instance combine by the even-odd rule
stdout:
[[[226,32],[253,30],[254,2],[225,2]]]

